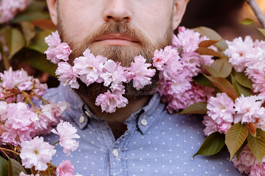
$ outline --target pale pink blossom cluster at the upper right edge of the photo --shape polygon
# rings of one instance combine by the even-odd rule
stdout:
[[[245,72],[253,82],[253,92],[265,95],[265,41],[253,42],[250,36],[227,41],[225,54],[237,72]]]

